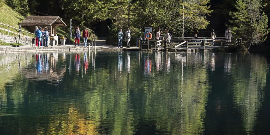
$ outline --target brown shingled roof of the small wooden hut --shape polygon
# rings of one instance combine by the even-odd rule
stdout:
[[[21,26],[67,26],[59,16],[27,16]]]

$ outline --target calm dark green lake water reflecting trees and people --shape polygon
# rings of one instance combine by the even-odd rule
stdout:
[[[269,134],[270,57],[0,54],[0,134]]]

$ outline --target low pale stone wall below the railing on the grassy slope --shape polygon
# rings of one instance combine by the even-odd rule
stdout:
[[[4,41],[6,43],[9,43],[9,44],[16,43],[16,42],[19,41],[19,36],[18,37],[13,37],[13,36],[8,36],[8,35],[4,35],[4,34],[0,33],[0,40]],[[31,37],[30,38],[28,37],[28,40],[27,40],[26,37],[21,36],[20,43],[22,45],[32,45],[32,39],[31,39]]]

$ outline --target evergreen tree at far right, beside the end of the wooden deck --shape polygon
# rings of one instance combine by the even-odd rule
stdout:
[[[233,24],[232,30],[236,38],[242,38],[247,49],[251,45],[260,44],[265,41],[269,33],[267,26],[268,18],[262,7],[262,0],[237,0],[236,12],[231,12]]]

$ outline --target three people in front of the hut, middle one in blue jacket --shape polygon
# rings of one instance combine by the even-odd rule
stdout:
[[[43,38],[45,41],[44,47],[48,47],[49,32],[48,28],[42,29],[41,27],[35,26],[35,45],[40,47],[43,46]]]

